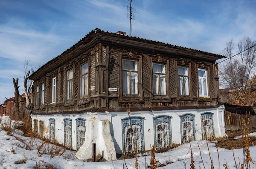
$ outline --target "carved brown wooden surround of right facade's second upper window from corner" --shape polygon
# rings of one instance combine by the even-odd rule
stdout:
[[[151,102],[171,102],[171,91],[169,83],[169,69],[170,61],[161,55],[150,56],[149,57],[149,70],[150,70],[150,83],[151,83]],[[153,85],[153,63],[165,65],[166,74],[166,95],[154,95],[154,85]]]

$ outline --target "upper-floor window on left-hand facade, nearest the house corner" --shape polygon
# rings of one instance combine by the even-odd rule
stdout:
[[[80,97],[89,95],[89,64],[85,63],[81,66],[81,88]]]

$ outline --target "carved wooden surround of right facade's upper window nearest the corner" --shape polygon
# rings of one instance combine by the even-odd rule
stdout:
[[[138,94],[125,94],[122,93],[122,60],[136,60],[137,61],[137,72],[138,72]],[[119,102],[142,102],[143,91],[142,91],[142,55],[134,54],[132,52],[119,52],[118,54],[119,64]]]

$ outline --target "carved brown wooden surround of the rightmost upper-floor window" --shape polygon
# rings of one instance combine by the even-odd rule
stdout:
[[[199,95],[199,78],[198,78],[198,69],[205,69],[207,71],[207,90],[208,90],[208,96],[200,96]],[[198,84],[198,98],[199,100],[211,100],[211,91],[210,91],[210,65],[207,63],[198,63],[196,66],[197,71],[197,84]]]

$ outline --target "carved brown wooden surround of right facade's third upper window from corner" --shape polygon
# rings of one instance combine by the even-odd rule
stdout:
[[[177,100],[192,100],[192,76],[191,76],[191,62],[185,59],[176,59],[175,60],[175,70],[176,70],[176,87],[177,87]],[[187,67],[188,68],[188,77],[189,77],[189,95],[179,95],[179,73],[178,67]]]

